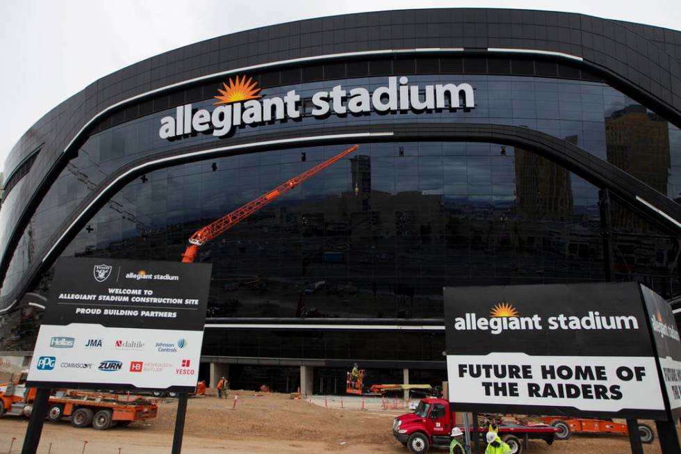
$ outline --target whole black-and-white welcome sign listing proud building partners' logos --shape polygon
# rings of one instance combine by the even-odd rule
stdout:
[[[194,391],[210,264],[59,259],[26,384]]]

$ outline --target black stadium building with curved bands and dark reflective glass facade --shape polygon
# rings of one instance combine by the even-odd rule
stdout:
[[[681,65],[671,52],[681,33],[607,21],[628,67],[648,62],[634,81],[603,58],[612,49],[583,44],[605,21],[540,13],[276,25],[170,51],[74,95],[6,162],[1,349],[32,348],[57,257],[179,261],[197,229],[354,143],[202,247],[213,276],[199,378],[211,386],[229,375],[233,387],[342,393],[354,362],[375,382],[438,384],[443,286],[634,280],[675,305],[681,105],[653,87],[678,83],[659,61]],[[461,35],[462,21],[504,36]],[[551,36],[516,36],[533,30]],[[637,53],[648,44],[662,54]],[[182,106],[211,111],[222,83],[244,74],[263,99],[295,91],[300,117],[223,137],[159,135]],[[467,83],[475,105],[314,113],[319,92],[345,106],[403,76],[426,103],[427,86]]]

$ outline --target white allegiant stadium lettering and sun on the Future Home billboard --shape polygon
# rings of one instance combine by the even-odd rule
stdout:
[[[520,316],[518,310],[508,302],[492,307],[489,317],[480,317],[475,312],[466,312],[463,317],[454,318],[454,330],[489,331],[501,334],[518,330],[638,330],[639,321],[635,316],[602,315],[599,311],[588,311],[584,316],[558,314],[544,321],[539,314]]]

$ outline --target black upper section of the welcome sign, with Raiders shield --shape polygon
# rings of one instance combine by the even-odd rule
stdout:
[[[203,330],[211,264],[62,258],[44,325]]]

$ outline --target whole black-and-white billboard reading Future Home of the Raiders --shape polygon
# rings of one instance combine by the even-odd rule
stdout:
[[[669,402],[679,407],[681,348],[671,309],[637,283],[444,292],[450,402],[458,411],[666,420]],[[657,349],[655,320],[664,326]]]

